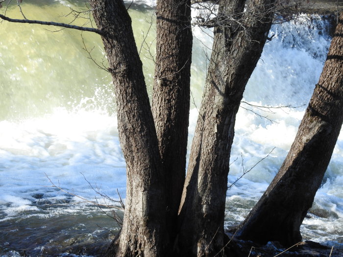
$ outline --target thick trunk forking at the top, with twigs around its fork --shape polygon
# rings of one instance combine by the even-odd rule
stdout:
[[[182,194],[181,256],[223,248],[224,208],[235,118],[272,21],[273,0],[221,0],[204,96]],[[213,24],[213,23],[212,23]]]

